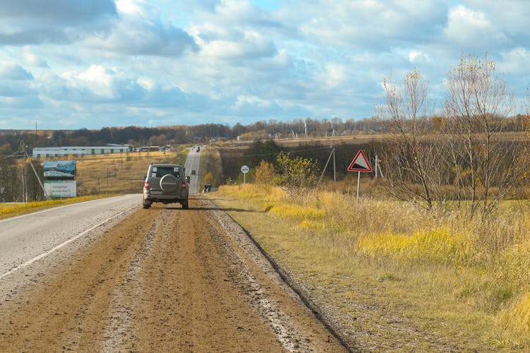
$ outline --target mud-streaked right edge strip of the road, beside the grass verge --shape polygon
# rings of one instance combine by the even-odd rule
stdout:
[[[212,209],[210,212],[215,219],[211,226],[217,228],[217,232],[227,234],[225,246],[237,258],[234,276],[238,280],[233,282],[242,285],[254,309],[269,322],[285,349],[290,352],[346,350],[330,345],[330,342],[343,343],[338,343],[338,338],[334,337],[336,333],[329,331],[326,324],[317,321],[313,309],[302,304],[300,295],[284,282],[283,276],[261,253],[249,234],[213,202],[204,202]]]

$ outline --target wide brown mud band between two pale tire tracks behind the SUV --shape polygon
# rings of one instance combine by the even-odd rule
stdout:
[[[281,351],[266,324],[241,302],[227,275],[230,258],[215,241],[221,234],[211,233],[204,211],[174,214],[143,266],[145,287],[161,295],[142,299],[139,316],[150,321],[139,332],[139,349],[167,342],[177,351]]]

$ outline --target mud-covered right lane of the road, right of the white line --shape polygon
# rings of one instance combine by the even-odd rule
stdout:
[[[199,195],[91,237],[0,280],[0,352],[346,351]]]

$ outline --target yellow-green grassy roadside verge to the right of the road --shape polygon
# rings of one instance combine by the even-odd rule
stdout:
[[[360,347],[530,349],[528,201],[481,222],[379,198],[355,208],[351,189],[329,184],[293,201],[247,184],[209,196]]]

